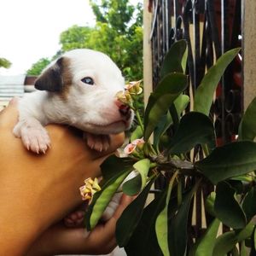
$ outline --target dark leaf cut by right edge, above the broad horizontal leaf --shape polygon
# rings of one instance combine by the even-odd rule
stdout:
[[[256,98],[245,111],[239,125],[239,140],[251,140],[256,137]]]

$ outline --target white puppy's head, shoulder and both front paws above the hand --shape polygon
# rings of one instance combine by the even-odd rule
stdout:
[[[91,49],[73,49],[53,61],[39,76],[35,92],[20,99],[16,137],[26,148],[45,153],[50,146],[44,125],[67,124],[86,131],[90,148],[109,146],[109,134],[130,128],[131,109],[115,95],[125,80],[113,61]]]

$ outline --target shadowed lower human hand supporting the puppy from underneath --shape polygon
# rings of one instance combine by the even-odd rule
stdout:
[[[116,222],[132,200],[132,197],[123,195],[113,217],[90,232],[84,228],[67,228],[63,223],[53,225],[38,238],[26,256],[111,253],[116,247]]]

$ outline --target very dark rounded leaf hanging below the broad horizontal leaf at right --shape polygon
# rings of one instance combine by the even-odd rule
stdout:
[[[247,224],[245,213],[235,199],[236,190],[229,183],[218,183],[214,212],[225,225],[235,230],[243,229]]]

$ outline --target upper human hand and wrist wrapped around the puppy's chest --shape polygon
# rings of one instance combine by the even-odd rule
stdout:
[[[87,148],[77,130],[48,125],[52,148],[32,154],[13,135],[17,103],[0,113],[0,233],[1,255],[22,255],[50,225],[81,203],[79,187],[101,174],[100,165],[123,143],[111,139],[107,152]]]

